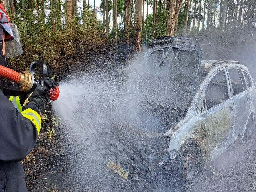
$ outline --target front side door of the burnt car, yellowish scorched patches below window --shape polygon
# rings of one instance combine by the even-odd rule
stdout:
[[[211,160],[232,142],[234,105],[226,68],[215,71],[201,96],[201,116],[206,131],[206,157]]]

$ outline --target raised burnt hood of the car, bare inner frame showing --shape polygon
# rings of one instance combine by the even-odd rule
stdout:
[[[202,60],[202,50],[196,38],[158,37],[153,40],[144,58],[149,65],[163,68],[168,73],[168,81],[179,84],[179,88],[189,94],[189,101],[192,100]]]

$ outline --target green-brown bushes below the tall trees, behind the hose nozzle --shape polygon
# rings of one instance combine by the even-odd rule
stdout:
[[[58,31],[53,31],[51,24],[42,22],[41,16],[36,16],[30,9],[23,14],[11,15],[11,22],[18,27],[24,53],[8,58],[8,64],[22,71],[28,69],[32,61],[43,60],[52,73],[61,75],[61,69],[76,64],[75,58],[106,46],[103,24],[97,21],[96,13],[86,10],[82,14],[84,26],[78,17],[73,17],[68,28]]]

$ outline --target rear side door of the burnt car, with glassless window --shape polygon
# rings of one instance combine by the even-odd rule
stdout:
[[[244,75],[239,67],[227,67],[231,95],[234,102],[235,124],[234,140],[244,132],[250,113],[250,92],[247,89]]]

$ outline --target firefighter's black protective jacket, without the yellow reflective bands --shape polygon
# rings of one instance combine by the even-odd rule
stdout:
[[[39,111],[35,105],[32,108]],[[21,160],[35,147],[37,137],[35,124],[4,96],[0,83],[0,192],[27,191]]]

